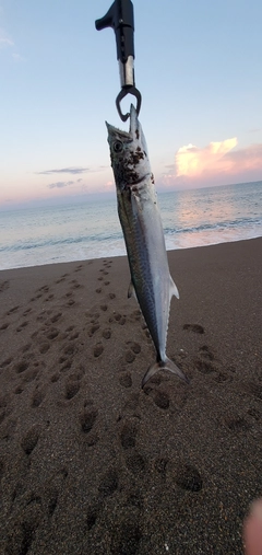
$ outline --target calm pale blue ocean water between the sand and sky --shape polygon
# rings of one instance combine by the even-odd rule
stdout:
[[[158,194],[167,250],[262,236],[262,182]],[[0,269],[124,255],[116,197],[0,212]]]

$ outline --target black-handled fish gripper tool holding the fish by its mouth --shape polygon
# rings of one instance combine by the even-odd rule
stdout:
[[[97,31],[106,27],[112,27],[115,31],[121,83],[121,91],[117,96],[116,104],[120,118],[122,122],[127,122],[130,114],[122,114],[120,108],[121,100],[129,93],[133,94],[138,101],[138,114],[142,101],[134,82],[134,19],[131,0],[115,0],[106,15],[100,20],[96,20],[95,26]]]

